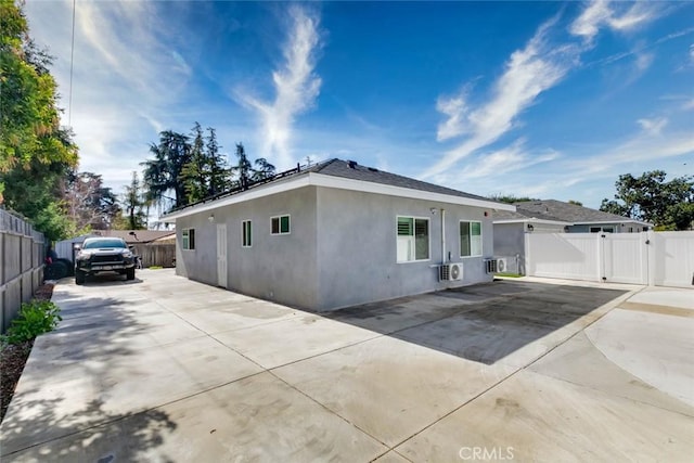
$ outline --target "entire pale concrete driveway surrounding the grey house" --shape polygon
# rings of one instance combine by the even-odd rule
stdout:
[[[143,270],[53,300],[2,461],[691,461],[694,291],[502,281],[316,314]]]

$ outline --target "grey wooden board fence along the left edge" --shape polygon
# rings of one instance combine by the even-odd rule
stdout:
[[[44,256],[43,234],[0,209],[0,333],[41,284]]]

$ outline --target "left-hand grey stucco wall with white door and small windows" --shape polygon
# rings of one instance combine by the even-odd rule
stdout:
[[[228,288],[299,308],[317,306],[316,188],[306,187],[176,221],[177,274],[217,285],[217,223],[227,223]],[[291,233],[272,235],[270,218],[290,215]],[[215,216],[214,223],[208,217]],[[252,220],[253,246],[242,247],[242,222]],[[195,229],[195,250],[182,231]]]

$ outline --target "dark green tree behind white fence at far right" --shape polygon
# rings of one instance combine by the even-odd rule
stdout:
[[[666,181],[664,170],[619,176],[616,201],[603,200],[601,210],[650,222],[664,230],[684,230],[694,220],[694,177]]]

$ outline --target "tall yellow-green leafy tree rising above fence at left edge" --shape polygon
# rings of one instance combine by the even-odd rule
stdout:
[[[0,204],[54,241],[77,232],[64,202],[77,146],[60,127],[52,59],[28,33],[21,7],[0,1]]]

